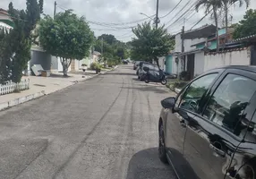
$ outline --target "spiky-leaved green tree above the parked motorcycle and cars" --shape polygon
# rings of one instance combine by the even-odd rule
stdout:
[[[151,27],[150,22],[144,22],[142,25],[138,24],[135,29],[132,29],[132,32],[136,36],[136,38],[132,38],[131,43],[133,60],[152,62],[154,59],[158,64],[158,57],[167,55],[175,45],[165,26],[156,29]]]

